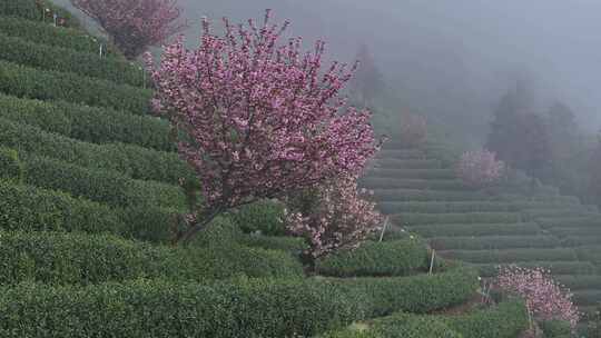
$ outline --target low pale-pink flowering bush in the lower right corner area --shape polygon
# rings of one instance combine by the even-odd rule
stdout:
[[[524,298],[531,316],[540,320],[565,320],[575,328],[580,314],[572,294],[556,284],[541,268],[502,268],[497,278],[501,289]]]

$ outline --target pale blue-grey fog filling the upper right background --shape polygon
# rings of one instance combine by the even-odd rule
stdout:
[[[352,61],[366,43],[400,106],[441,121],[485,126],[491,107],[515,77],[526,77],[541,105],[561,99],[581,125],[601,123],[598,92],[601,2],[590,0],[183,0],[198,33],[199,18],[260,18],[272,8],[293,21],[292,33],[324,38]],[[193,38],[194,39],[194,38]],[[474,119],[474,117],[477,117]],[[450,119],[447,119],[450,118]]]

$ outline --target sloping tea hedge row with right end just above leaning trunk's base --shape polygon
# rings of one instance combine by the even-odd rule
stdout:
[[[24,156],[24,182],[61,190],[75,197],[112,207],[155,206],[186,209],[186,196],[178,186],[135,180],[115,171],[87,169],[45,157]]]

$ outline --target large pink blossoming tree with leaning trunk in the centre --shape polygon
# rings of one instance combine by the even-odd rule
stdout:
[[[367,110],[342,113],[353,68],[322,71],[324,42],[304,54],[299,38],[278,44],[288,23],[269,23],[269,11],[260,28],[224,22],[218,37],[205,20],[198,50],[180,38],[151,71],[155,108],[186,136],[179,152],[203,187],[204,208],[180,241],[230,208],[355,176],[380,147]]]

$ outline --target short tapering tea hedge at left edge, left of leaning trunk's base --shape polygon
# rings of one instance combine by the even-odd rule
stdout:
[[[9,181],[0,181],[0,210],[4,230],[117,233],[125,227],[107,206]]]

